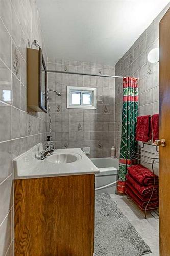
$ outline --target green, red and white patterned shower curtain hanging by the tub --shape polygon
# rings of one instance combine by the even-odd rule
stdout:
[[[132,165],[131,152],[135,150],[135,131],[138,116],[138,85],[133,77],[123,78],[122,135],[117,192],[125,193],[127,168]]]

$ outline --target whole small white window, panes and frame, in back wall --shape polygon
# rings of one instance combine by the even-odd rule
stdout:
[[[67,86],[67,108],[96,109],[96,88]]]

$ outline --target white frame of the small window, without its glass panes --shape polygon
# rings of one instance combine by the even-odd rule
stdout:
[[[80,104],[71,104],[71,94],[80,93]],[[91,104],[82,104],[83,93],[91,94]],[[68,109],[96,109],[97,108],[97,89],[94,87],[67,86],[67,108]]]

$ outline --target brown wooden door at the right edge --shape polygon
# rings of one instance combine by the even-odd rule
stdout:
[[[160,22],[159,60],[159,139],[166,140],[160,147],[159,211],[160,256],[170,255],[170,9]]]

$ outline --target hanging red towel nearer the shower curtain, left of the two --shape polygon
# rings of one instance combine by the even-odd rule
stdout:
[[[136,140],[147,142],[150,141],[151,138],[151,117],[149,115],[138,116],[136,127]]]

